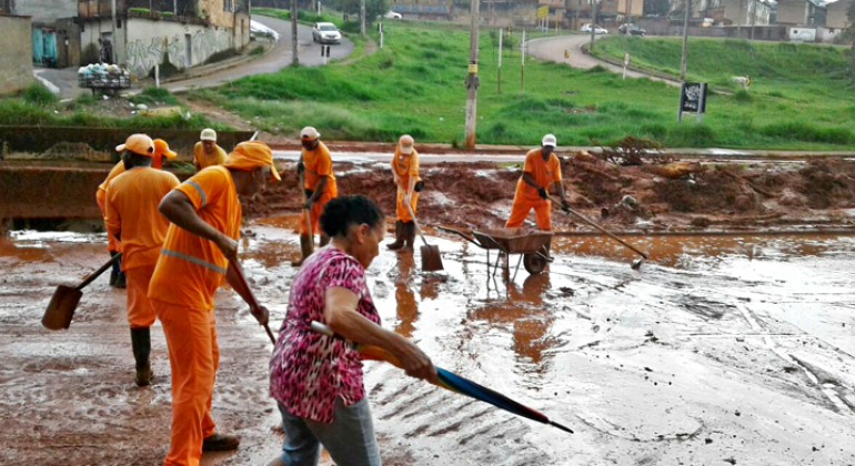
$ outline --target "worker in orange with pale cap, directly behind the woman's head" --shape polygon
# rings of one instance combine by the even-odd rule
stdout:
[[[306,202],[303,209],[309,212],[309,222],[312,231],[306,230],[305,215],[300,220],[300,252],[301,257],[294,262],[300,266],[309,257],[314,249],[314,232],[320,232],[318,219],[323,206],[339,193],[335,188],[335,176],[332,174],[332,156],[330,150],[320,141],[321,133],[312,126],[300,131],[300,142],[303,145],[300,161],[296,164],[298,174],[303,173],[303,190]],[[321,232],[321,247],[325,246],[330,239]]]

